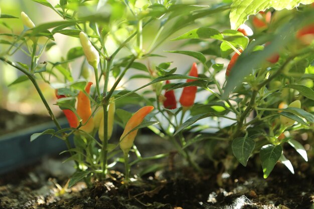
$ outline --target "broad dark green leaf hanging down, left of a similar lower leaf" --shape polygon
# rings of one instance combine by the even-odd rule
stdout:
[[[255,147],[255,141],[249,137],[238,137],[232,142],[232,151],[238,161],[246,166]]]

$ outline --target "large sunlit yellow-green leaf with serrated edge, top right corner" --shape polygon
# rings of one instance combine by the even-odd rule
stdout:
[[[231,29],[237,30],[250,15],[255,15],[259,11],[265,11],[269,8],[275,10],[292,10],[299,4],[308,5],[314,0],[290,0],[290,1],[272,1],[272,0],[234,0],[231,5],[230,24]]]

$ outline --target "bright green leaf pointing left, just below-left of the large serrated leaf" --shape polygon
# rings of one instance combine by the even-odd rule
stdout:
[[[178,38],[172,39],[173,41],[183,40],[183,39],[217,39],[223,41],[223,35],[216,29],[213,28],[198,28],[193,29]]]

